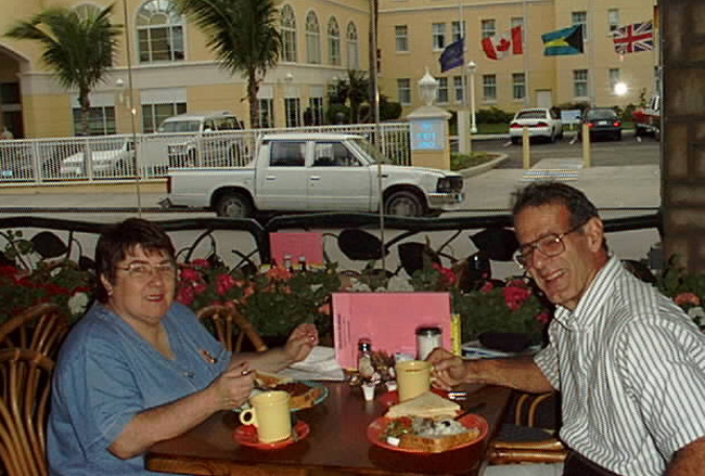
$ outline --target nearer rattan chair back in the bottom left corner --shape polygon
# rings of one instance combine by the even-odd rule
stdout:
[[[53,368],[35,350],[0,350],[0,459],[8,476],[48,474],[44,428]]]

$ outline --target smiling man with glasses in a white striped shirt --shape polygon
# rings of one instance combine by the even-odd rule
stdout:
[[[611,256],[594,205],[564,183],[515,192],[516,261],[556,305],[549,344],[533,358],[428,360],[438,385],[560,390],[564,476],[703,474],[705,336],[670,299]],[[561,474],[490,466],[492,474]]]

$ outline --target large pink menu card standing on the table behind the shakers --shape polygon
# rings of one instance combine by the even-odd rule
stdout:
[[[372,350],[416,355],[416,327],[438,326],[450,348],[448,293],[333,293],[335,359],[343,369],[357,369],[360,338]]]

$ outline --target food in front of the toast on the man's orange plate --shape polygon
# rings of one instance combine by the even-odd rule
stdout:
[[[389,419],[380,439],[396,447],[440,453],[479,437],[479,428],[469,428],[449,417],[400,416]]]

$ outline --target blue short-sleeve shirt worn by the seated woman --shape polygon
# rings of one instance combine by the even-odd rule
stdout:
[[[174,304],[162,322],[174,360],[101,305],[72,330],[52,381],[52,476],[154,474],[144,469],[142,455],[120,460],[107,447],[137,413],[202,390],[231,359],[189,308]]]

